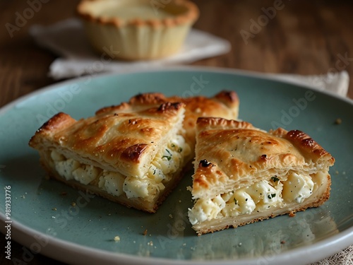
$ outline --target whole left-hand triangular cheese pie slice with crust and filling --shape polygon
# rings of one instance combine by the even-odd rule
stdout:
[[[155,212],[191,154],[183,136],[184,112],[184,103],[164,102],[151,108],[121,105],[119,111],[80,120],[59,113],[29,144],[50,177]]]

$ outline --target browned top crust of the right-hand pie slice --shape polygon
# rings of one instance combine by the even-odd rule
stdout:
[[[205,193],[214,196],[209,189],[220,183],[239,183],[235,188],[244,187],[261,180],[263,175],[259,173],[274,168],[306,169],[321,161],[325,163],[321,167],[328,168],[335,162],[330,153],[298,130],[279,128],[266,132],[248,122],[201,117],[196,131],[196,162],[212,161],[213,166],[198,166],[193,177],[194,198],[205,196]],[[256,175],[259,177],[242,179]]]

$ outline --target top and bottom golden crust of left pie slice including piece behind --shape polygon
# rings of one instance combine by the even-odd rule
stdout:
[[[103,107],[95,112],[94,117],[87,119],[76,121],[68,114],[56,114],[38,129],[30,139],[30,146],[40,151],[41,163],[51,177],[126,206],[155,212],[184,172],[191,168],[197,117],[201,114],[237,117],[238,107],[237,95],[227,91],[218,93],[213,98],[199,96],[189,99],[176,96],[167,98],[162,93],[139,94],[120,105]],[[184,114],[189,119],[187,130],[182,129]],[[176,125],[177,123],[179,125]],[[124,176],[152,177],[149,175],[152,160],[154,165],[161,165],[161,160],[154,160],[155,155],[161,152],[161,148],[165,150],[171,138],[179,143],[179,140],[175,139],[177,134],[183,136],[186,141],[185,150],[178,151],[179,155],[182,155],[181,164],[173,173],[172,181],[162,182],[162,191],[155,199],[128,198],[126,194],[113,196],[98,187],[100,177],[88,184],[82,184],[76,181],[77,179],[72,179],[72,176],[63,177],[62,173],[60,175],[57,172],[58,165],[53,161],[51,153],[53,150],[57,151],[64,155],[65,159],[78,161],[82,167],[92,165],[100,170],[119,172]],[[189,136],[189,139],[186,136]],[[193,146],[190,148],[189,144]],[[169,160],[169,154],[164,154],[164,157]],[[173,167],[173,164],[171,166]]]

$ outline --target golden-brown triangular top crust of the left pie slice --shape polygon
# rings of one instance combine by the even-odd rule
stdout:
[[[160,146],[167,145],[169,139],[164,136],[183,114],[183,103],[170,102],[140,112],[110,112],[78,121],[59,113],[36,132],[30,146],[52,146],[83,163],[138,177],[148,170]]]

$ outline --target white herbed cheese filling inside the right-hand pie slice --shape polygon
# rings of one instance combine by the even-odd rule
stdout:
[[[290,172],[284,182],[271,177],[212,199],[197,199],[193,208],[189,208],[189,219],[195,225],[205,220],[261,212],[277,206],[285,207],[294,201],[300,204],[311,196],[313,188],[314,183],[309,175]]]

